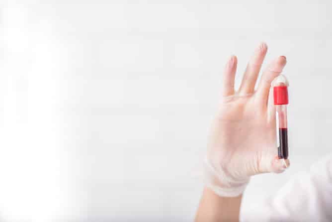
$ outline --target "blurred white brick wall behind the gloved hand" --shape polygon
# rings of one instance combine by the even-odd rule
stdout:
[[[165,2],[1,3],[1,222],[192,221],[221,70],[239,85],[260,41],[287,57],[292,165],[243,210],[331,152],[330,1]]]

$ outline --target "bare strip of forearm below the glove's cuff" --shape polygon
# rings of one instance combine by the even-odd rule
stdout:
[[[220,197],[205,188],[195,222],[238,222],[242,195]]]

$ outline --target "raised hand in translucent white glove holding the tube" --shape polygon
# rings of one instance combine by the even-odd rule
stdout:
[[[258,73],[267,51],[259,45],[249,61],[240,89],[234,91],[237,57],[232,56],[223,74],[222,98],[212,124],[206,155],[207,186],[220,196],[239,196],[252,175],[283,172],[289,166],[278,159],[276,120],[271,82],[286,65],[279,56]]]

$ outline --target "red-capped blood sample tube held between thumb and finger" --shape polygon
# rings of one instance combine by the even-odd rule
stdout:
[[[287,105],[288,105],[288,81],[284,75],[279,75],[272,82],[273,99],[279,119],[279,159],[288,158],[288,128],[287,128]]]

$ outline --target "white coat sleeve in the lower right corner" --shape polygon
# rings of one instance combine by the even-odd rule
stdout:
[[[251,208],[250,208],[251,209]],[[332,222],[332,155],[300,173],[241,222]]]

